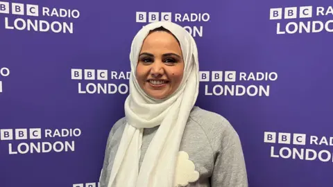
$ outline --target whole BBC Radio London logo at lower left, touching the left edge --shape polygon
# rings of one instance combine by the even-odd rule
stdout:
[[[8,142],[8,154],[74,152],[75,139],[82,134],[76,129],[19,128],[1,129],[0,146]],[[62,141],[66,139],[67,141]],[[69,141],[69,139],[72,139]]]

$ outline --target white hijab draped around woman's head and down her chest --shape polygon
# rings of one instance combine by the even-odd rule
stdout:
[[[155,100],[139,87],[135,71],[142,43],[154,28],[167,28],[180,42],[185,62],[178,89],[164,100]],[[117,150],[108,187],[173,187],[176,161],[189,113],[196,103],[199,86],[198,52],[193,37],[169,21],[144,26],[130,51],[130,94],[125,102],[126,127]],[[160,125],[139,169],[144,128]]]

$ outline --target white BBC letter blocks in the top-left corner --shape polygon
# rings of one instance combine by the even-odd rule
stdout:
[[[38,6],[26,4],[24,8],[23,3],[11,3],[12,8],[10,9],[10,3],[0,1],[0,13],[11,14],[12,15],[28,15],[28,16],[38,16]]]

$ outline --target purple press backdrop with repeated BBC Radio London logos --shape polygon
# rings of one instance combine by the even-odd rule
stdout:
[[[95,187],[150,21],[198,45],[196,105],[227,118],[249,186],[332,186],[332,2],[0,1],[0,186]]]

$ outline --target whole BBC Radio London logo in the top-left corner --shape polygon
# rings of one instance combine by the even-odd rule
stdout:
[[[80,11],[0,1],[0,18],[3,15],[3,21],[0,23],[4,25],[5,29],[73,34],[73,21],[80,17]],[[49,21],[50,17],[53,18],[53,21]]]

